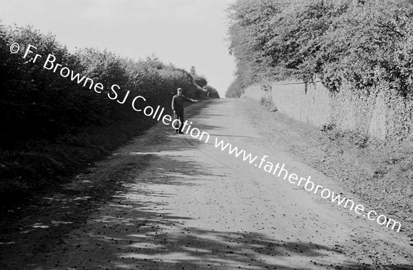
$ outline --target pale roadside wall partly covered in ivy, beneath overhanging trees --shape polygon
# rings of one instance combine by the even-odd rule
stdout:
[[[398,132],[397,127],[403,125],[401,120],[396,121],[396,116],[401,112],[396,113],[389,107],[385,92],[364,98],[352,93],[341,91],[330,94],[320,82],[285,81],[251,85],[242,97],[248,96],[257,101],[270,99],[279,112],[317,128],[334,124],[343,131],[357,132],[381,141],[400,141],[400,138],[412,137],[409,127],[401,131],[403,134],[399,132],[399,137],[394,135]]]

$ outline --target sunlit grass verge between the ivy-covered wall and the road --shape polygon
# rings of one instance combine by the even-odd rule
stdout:
[[[401,231],[413,243],[413,145],[317,129],[250,98],[242,98],[237,106],[271,143],[332,178],[369,209],[401,222]]]

